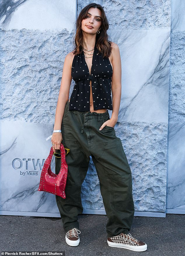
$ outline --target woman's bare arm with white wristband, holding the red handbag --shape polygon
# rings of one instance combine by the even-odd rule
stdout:
[[[69,89],[71,85],[71,65],[72,59],[74,55],[72,52],[68,53],[64,60],[63,72],[62,72],[62,80],[60,84],[60,92],[58,96],[58,102],[55,112],[55,125],[54,130],[61,130],[62,125],[62,118],[64,115],[65,105],[69,99]],[[51,137],[51,142],[55,144],[53,145],[53,151],[55,152],[56,149],[60,150],[60,143],[62,141],[62,133],[56,132],[53,133]]]

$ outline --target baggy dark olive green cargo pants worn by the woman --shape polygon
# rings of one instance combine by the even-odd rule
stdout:
[[[55,195],[65,232],[79,229],[78,214],[82,214],[81,185],[88,171],[90,155],[100,182],[105,211],[108,217],[107,237],[121,232],[128,234],[134,218],[132,175],[121,139],[113,127],[100,126],[109,120],[108,110],[97,113],[69,110],[67,101],[62,119],[62,144],[70,149],[66,155],[68,174],[66,198]],[[60,150],[56,150],[60,153]],[[61,158],[55,157],[58,174]]]

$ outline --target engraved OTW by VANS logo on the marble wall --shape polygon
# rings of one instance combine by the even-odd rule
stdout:
[[[42,170],[45,160],[46,159],[43,159],[42,164],[41,164],[40,159],[37,159],[37,162],[35,163],[34,158],[32,158],[32,159],[31,158],[28,158],[28,159],[23,158],[22,160],[20,158],[15,158],[12,161],[12,167],[15,170],[20,170],[20,175],[34,176],[34,175],[39,174],[39,170]],[[38,170],[38,168],[39,168],[39,170]]]

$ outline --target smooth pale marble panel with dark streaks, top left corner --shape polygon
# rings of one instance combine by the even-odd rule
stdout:
[[[74,0],[6,0],[0,6],[0,28],[4,30],[67,29],[71,32],[74,28]]]

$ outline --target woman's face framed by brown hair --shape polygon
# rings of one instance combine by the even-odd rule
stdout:
[[[87,34],[96,34],[102,24],[101,15],[98,8],[89,8],[86,18],[82,20],[81,29]]]

